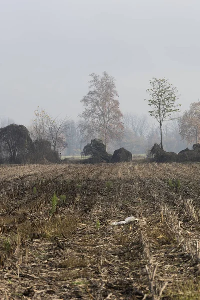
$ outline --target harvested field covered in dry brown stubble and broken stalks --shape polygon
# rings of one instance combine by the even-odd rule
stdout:
[[[198,163],[1,166],[0,299],[200,299],[199,199]]]

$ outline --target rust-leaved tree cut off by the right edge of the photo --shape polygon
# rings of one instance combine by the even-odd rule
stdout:
[[[198,143],[200,137],[200,102],[193,102],[179,121],[179,133],[188,143]]]

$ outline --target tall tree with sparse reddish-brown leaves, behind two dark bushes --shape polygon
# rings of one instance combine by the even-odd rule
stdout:
[[[107,150],[110,140],[123,134],[123,114],[119,109],[115,79],[107,72],[102,76],[92,73],[90,77],[89,91],[81,100],[84,111],[79,116],[84,119],[87,136],[98,136]]]

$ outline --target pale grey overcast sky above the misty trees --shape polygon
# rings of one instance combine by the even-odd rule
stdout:
[[[116,79],[122,112],[147,113],[166,77],[181,110],[200,98],[199,0],[0,0],[0,115],[28,125],[39,105],[77,119],[89,74]]]

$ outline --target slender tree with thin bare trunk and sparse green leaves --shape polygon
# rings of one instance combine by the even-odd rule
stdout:
[[[171,115],[179,112],[179,106],[176,101],[179,97],[178,90],[173,84],[168,82],[168,79],[152,78],[150,80],[150,88],[146,90],[150,99],[148,105],[151,110],[148,111],[149,115],[159,123],[161,149],[163,150],[162,143],[162,125],[164,121],[172,120]]]

